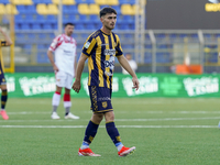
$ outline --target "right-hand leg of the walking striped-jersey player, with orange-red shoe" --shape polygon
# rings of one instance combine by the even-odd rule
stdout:
[[[113,111],[106,112],[105,118],[106,118],[107,132],[108,132],[109,136],[111,138],[112,142],[114,143],[114,145],[117,146],[119,156],[127,156],[127,155],[133,153],[133,151],[135,150],[135,146],[125,147],[121,142],[119,131],[114,124]]]

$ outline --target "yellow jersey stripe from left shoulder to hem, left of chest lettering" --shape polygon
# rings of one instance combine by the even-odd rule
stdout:
[[[96,64],[99,72],[99,87],[103,87],[103,70],[101,69],[101,38],[100,36],[96,37],[97,40],[97,50],[96,50]]]

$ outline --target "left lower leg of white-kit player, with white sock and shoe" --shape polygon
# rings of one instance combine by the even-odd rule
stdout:
[[[59,119],[57,114],[57,108],[61,102],[62,88],[63,87],[56,86],[56,91],[54,92],[53,98],[52,98],[52,107],[53,107],[52,119]]]

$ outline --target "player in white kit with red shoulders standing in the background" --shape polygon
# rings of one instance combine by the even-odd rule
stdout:
[[[72,37],[73,33],[74,24],[66,23],[65,33],[56,36],[47,51],[47,56],[53,65],[56,77],[56,91],[52,99],[52,119],[59,119],[59,116],[57,114],[56,110],[59,106],[61,94],[63,88],[65,88],[65,119],[79,119],[79,117],[70,113],[70,89],[76,72],[76,41]],[[53,53],[55,54],[55,62]]]

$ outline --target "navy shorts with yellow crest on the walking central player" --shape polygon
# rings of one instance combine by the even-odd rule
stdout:
[[[89,95],[94,113],[103,113],[113,110],[111,105],[111,89],[89,86]]]

